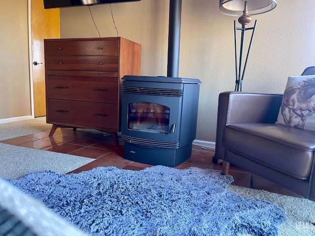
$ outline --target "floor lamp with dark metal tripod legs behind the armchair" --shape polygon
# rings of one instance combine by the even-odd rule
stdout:
[[[223,14],[230,16],[240,16],[238,22],[242,25],[242,28],[236,27],[236,21],[234,21],[234,43],[235,43],[235,91],[242,91],[242,84],[244,74],[246,70],[248,56],[252,47],[252,39],[256,29],[257,20],[252,28],[246,28],[251,23],[252,17],[250,15],[258,15],[268,11],[271,11],[277,6],[277,0],[220,0],[220,11]],[[237,50],[237,30],[241,30],[241,45],[240,55],[238,56]],[[243,62],[244,40],[245,32],[252,30],[251,41],[247,50],[245,63]],[[244,63],[244,66],[243,66]]]

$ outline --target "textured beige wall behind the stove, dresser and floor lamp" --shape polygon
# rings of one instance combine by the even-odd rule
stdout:
[[[219,0],[183,0],[179,77],[202,81],[197,139],[215,141],[218,95],[234,90],[233,20]],[[142,75],[166,76],[169,0],[112,4],[119,36],[142,45]],[[282,93],[289,75],[315,65],[315,1],[279,0],[258,16],[243,91]],[[110,5],[91,6],[101,37],[117,36]],[[88,7],[61,9],[61,37],[98,37]],[[248,36],[249,37],[249,36]],[[257,104],[259,106],[259,104]]]

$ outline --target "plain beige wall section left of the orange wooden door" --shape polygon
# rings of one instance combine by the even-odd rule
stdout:
[[[1,1],[0,121],[31,116],[28,1]]]

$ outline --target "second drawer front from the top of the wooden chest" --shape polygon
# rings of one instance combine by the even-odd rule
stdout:
[[[46,57],[47,70],[115,71],[118,57]]]

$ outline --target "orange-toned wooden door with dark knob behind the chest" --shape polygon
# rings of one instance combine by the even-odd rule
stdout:
[[[44,9],[43,0],[31,0],[32,80],[34,117],[46,116],[44,38],[60,38],[58,9]]]

